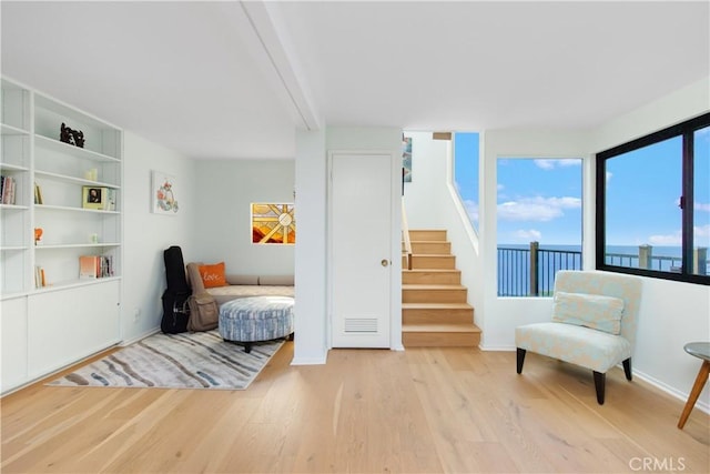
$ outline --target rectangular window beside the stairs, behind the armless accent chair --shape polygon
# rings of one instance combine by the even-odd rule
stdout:
[[[581,270],[581,159],[498,159],[498,296],[550,296]]]

